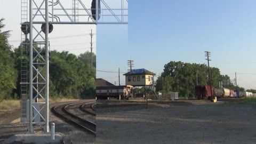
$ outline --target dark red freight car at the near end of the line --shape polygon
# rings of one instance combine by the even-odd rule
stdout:
[[[196,98],[200,99],[209,99],[211,97],[211,88],[210,85],[196,85]],[[214,87],[212,87],[212,95],[214,94]]]

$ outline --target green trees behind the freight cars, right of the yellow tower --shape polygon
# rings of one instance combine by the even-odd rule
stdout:
[[[210,67],[210,73],[212,86],[220,87],[220,82],[222,82],[223,87],[236,90],[230,77],[221,75],[219,68]],[[208,67],[205,64],[170,61],[164,66],[164,71],[156,82],[156,91],[163,94],[173,91],[182,96],[195,97],[196,85],[210,85]],[[245,91],[243,87],[237,87],[238,92]]]

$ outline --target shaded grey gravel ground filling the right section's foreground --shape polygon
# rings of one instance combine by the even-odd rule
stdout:
[[[256,106],[218,101],[152,103],[97,114],[97,143],[255,143]],[[106,111],[105,111],[106,112]]]

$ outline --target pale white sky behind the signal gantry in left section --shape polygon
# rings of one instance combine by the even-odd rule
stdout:
[[[38,1],[37,1],[38,2]],[[71,8],[72,1],[62,1],[61,3],[66,9]],[[89,1],[85,1],[86,7],[91,7]],[[39,6],[40,4],[37,3]],[[43,5],[44,7],[44,5]],[[59,8],[59,7],[56,7]],[[49,10],[51,11],[51,10]],[[63,12],[57,11],[56,13],[63,14]],[[69,11],[70,13],[70,11]],[[81,13],[82,14],[82,13]],[[0,1],[0,17],[4,18],[5,30],[11,30],[11,37],[9,43],[13,47],[18,47],[21,42],[21,1],[13,2],[8,0]],[[67,18],[60,17],[61,21],[67,21]],[[42,21],[42,17],[35,19]],[[51,19],[49,19],[51,20]],[[82,20],[82,19],[81,19]],[[87,18],[86,18],[87,20]],[[29,18],[28,18],[29,21]],[[40,28],[41,25],[34,25]],[[69,51],[79,55],[86,51],[91,51],[91,29],[93,34],[93,52],[96,53],[96,26],[95,25],[53,25],[53,31],[49,35],[51,50],[57,51]],[[36,31],[33,32],[34,35]]]

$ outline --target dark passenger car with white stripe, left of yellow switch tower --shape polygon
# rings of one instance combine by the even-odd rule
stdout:
[[[132,97],[131,90],[133,86],[121,85],[121,86],[96,86],[96,98],[97,99],[108,99],[116,98],[129,99]]]

